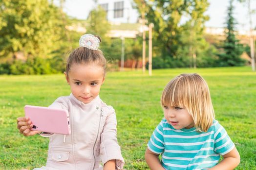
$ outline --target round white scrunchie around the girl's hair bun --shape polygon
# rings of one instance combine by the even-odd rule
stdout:
[[[100,40],[92,34],[84,34],[79,40],[80,47],[86,47],[91,50],[98,50],[100,47]]]

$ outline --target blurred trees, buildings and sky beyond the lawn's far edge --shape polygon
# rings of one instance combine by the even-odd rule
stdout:
[[[0,74],[63,72],[85,33],[101,36],[109,70],[145,71],[149,57],[153,69],[254,70],[255,8],[256,0],[0,0]]]

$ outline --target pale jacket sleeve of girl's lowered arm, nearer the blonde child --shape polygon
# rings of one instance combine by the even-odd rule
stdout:
[[[116,169],[122,170],[125,161],[121,154],[121,148],[117,142],[116,125],[116,114],[114,109],[112,108],[110,113],[107,115],[104,129],[101,134],[100,153],[103,164],[105,164],[109,160],[116,160]]]

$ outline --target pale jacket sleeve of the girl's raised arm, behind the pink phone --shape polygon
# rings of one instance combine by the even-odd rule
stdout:
[[[68,98],[67,97],[59,97],[48,107],[49,108],[55,108],[55,109],[68,110]],[[40,136],[43,136],[43,137],[51,137],[53,135],[55,135],[55,134],[54,133],[42,133],[42,134],[40,134]]]

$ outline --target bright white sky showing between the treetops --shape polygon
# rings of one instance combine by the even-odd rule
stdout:
[[[225,27],[227,17],[227,8],[229,0],[209,0],[210,5],[206,11],[206,15],[210,20],[206,22],[206,27]],[[249,15],[247,5],[234,0],[235,10],[234,17],[237,21],[236,28],[240,31],[249,31]],[[66,0],[64,11],[71,17],[86,19],[89,11],[95,6],[93,0]],[[251,8],[256,9],[256,0],[251,0]],[[253,27],[256,27],[256,14],[252,17]]]

